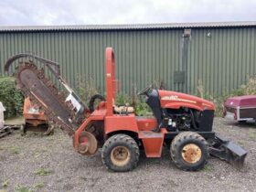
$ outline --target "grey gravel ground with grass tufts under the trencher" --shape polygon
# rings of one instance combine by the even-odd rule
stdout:
[[[112,173],[101,163],[101,150],[79,155],[59,130],[52,136],[16,131],[0,139],[0,191],[256,191],[254,123],[216,118],[214,130],[249,151],[242,170],[210,157],[201,171],[181,171],[165,149],[160,159],[141,155],[132,172]]]

